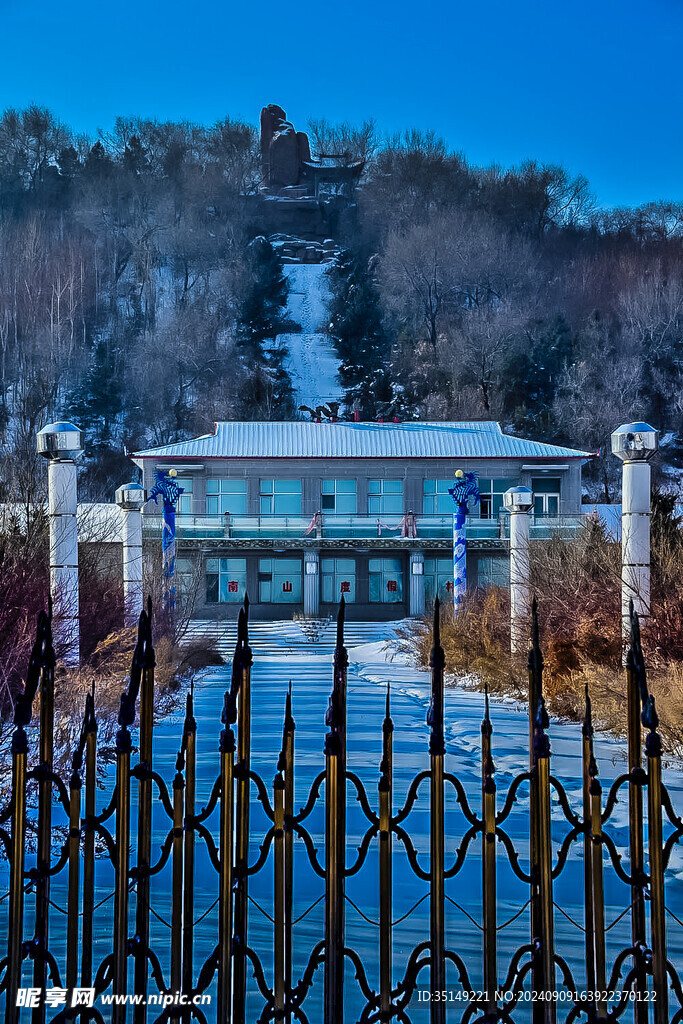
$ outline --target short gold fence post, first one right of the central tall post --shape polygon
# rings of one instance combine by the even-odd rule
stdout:
[[[382,724],[382,763],[380,764],[380,1010],[388,1014],[393,989],[392,967],[392,853],[391,831],[393,788],[393,722],[390,715],[391,688],[387,683],[384,722]]]

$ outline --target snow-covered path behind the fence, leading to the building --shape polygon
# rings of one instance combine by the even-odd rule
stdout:
[[[394,723],[394,810],[404,801],[410,781],[421,770],[428,768],[428,729],[425,716],[429,701],[428,674],[413,668],[404,655],[395,653],[391,642],[391,624],[364,624],[362,631],[353,631],[349,624],[347,643],[349,647],[348,671],[348,767],[365,783],[371,806],[377,806],[377,783],[382,743],[382,719],[387,683],[391,684],[391,716]],[[298,626],[293,623],[254,624],[251,640],[254,649],[253,667],[253,731],[252,768],[263,778],[270,790],[282,738],[282,721],[285,697],[290,680],[293,690],[293,714],[296,720],[295,733],[295,807],[302,806],[307,798],[314,777],[324,767],[323,741],[326,733],[325,713],[332,680],[332,630],[323,637],[319,646],[308,645],[297,635]],[[300,633],[300,631],[299,631]],[[225,646],[233,634],[225,630]],[[220,714],[223,693],[229,685],[228,667],[211,669],[201,674],[196,683],[195,717],[198,723],[198,807],[209,799],[214,779],[218,773],[218,738],[221,730]],[[446,771],[452,771],[461,779],[470,805],[475,812],[480,800],[480,725],[483,715],[483,697],[480,693],[449,688],[444,701],[446,728]],[[498,806],[502,806],[512,778],[523,771],[527,762],[527,723],[524,710],[511,700],[492,700],[492,721],[494,726],[494,757],[498,784]],[[155,769],[166,779],[173,779],[175,758],[182,732],[182,715],[178,711],[160,721],[155,730]],[[554,723],[551,726],[552,771],[566,786],[574,808],[581,806],[581,729],[577,725]],[[134,737],[135,741],[135,737]],[[611,779],[624,769],[624,744],[609,737],[597,737],[596,754],[599,761],[600,777],[605,790]],[[113,783],[113,767],[110,767],[103,781],[103,792],[98,795],[98,808],[105,806]],[[674,806],[683,809],[683,774],[680,771],[665,773]],[[134,787],[135,788],[135,787]],[[270,821],[265,817],[252,791],[252,833],[250,862],[258,857],[259,846]],[[55,811],[56,813],[56,811]],[[133,792],[133,820],[136,816],[135,794]],[[522,786],[506,829],[520,852],[522,866],[527,856],[526,838],[527,790]],[[216,831],[216,815],[207,822]],[[428,833],[428,786],[421,790],[420,799],[403,823],[410,833],[423,866],[429,860]],[[324,811],[319,807],[306,820],[313,843],[318,852],[324,846]],[[347,857],[355,858],[356,847],[367,830],[368,822],[349,791]],[[467,822],[446,787],[446,862],[452,863],[456,851],[467,830]],[[158,853],[169,829],[169,820],[160,805],[155,807],[153,856]],[[555,844],[568,830],[561,813],[555,808],[553,814],[553,839]],[[620,801],[615,814],[610,819],[610,835],[620,853],[627,861],[627,805]],[[428,892],[428,884],[420,881],[410,868],[402,848],[395,843],[393,912],[394,920],[400,919]],[[574,846],[572,855],[556,882],[555,898],[558,907],[568,914],[577,925],[558,910],[556,914],[557,946],[574,971],[580,987],[584,984],[583,955],[583,862]],[[557,851],[557,845],[555,846]],[[683,857],[681,848],[674,851],[671,869],[668,873],[667,899],[669,908],[683,918]],[[131,862],[134,862],[134,854]],[[272,851],[264,868],[250,880],[250,894],[256,901],[250,909],[249,943],[259,952],[270,980],[272,932],[265,913],[272,912]],[[57,906],[66,905],[65,872],[54,879],[52,899]],[[2,882],[6,882],[5,879]],[[112,870],[104,859],[97,862],[96,901],[104,900],[112,892]],[[5,890],[3,890],[5,891]],[[153,880],[153,903],[156,916],[152,921],[152,945],[160,955],[164,971],[168,974],[170,954],[170,933],[167,922],[171,909],[170,864]],[[323,881],[310,868],[305,851],[300,842],[295,843],[294,916],[301,915],[318,899],[324,891]],[[379,877],[377,843],[361,870],[349,878],[347,893],[352,901],[347,905],[347,944],[360,955],[371,987],[378,986],[377,930],[362,920],[356,907],[372,921],[379,913]],[[465,959],[473,985],[480,984],[481,951],[480,931],[468,920],[480,919],[481,903],[481,862],[479,842],[470,846],[465,866],[446,884],[451,900],[446,904],[447,942]],[[216,943],[216,909],[211,909],[217,895],[217,876],[211,865],[203,841],[197,845],[195,918],[200,919],[209,911],[196,929],[196,974],[209,956]],[[498,867],[498,913],[499,923],[504,923],[523,906],[527,899],[527,887],[512,872],[503,851]],[[628,907],[630,894],[615,879],[611,869],[605,871],[605,899],[607,922],[613,922]],[[257,905],[258,906],[257,906]],[[28,899],[27,934],[31,926],[31,897]],[[112,901],[98,910],[95,959],[100,961],[111,949]],[[509,927],[500,932],[499,970],[504,976],[511,952],[528,937],[528,911],[524,910]],[[6,915],[2,916],[2,929],[6,929]],[[683,959],[683,929],[673,919],[668,920],[670,953],[674,963]],[[51,923],[51,946],[59,951],[63,944],[63,918],[56,913]],[[294,977],[301,977],[310,949],[323,934],[323,904],[314,907],[295,927]],[[428,938],[428,900],[424,900],[404,922],[394,930],[394,971],[395,980],[402,977],[410,950],[420,941]],[[2,936],[4,937],[4,936]],[[628,916],[620,921],[607,933],[608,961],[614,952],[629,945]],[[454,991],[459,988],[455,971],[449,967],[447,983]],[[249,1020],[256,1020],[262,1000],[250,976],[251,1001]],[[421,978],[428,987],[427,977]],[[322,998],[322,971],[315,975],[315,985],[306,1000],[306,1012],[311,1021],[322,1019],[318,1013]],[[211,989],[210,989],[211,990]],[[357,995],[357,984],[350,969],[347,973],[347,1002],[345,1021],[355,1021],[362,1001]],[[523,1008],[515,1014],[515,1020],[526,1020]],[[428,1007],[413,999],[409,1016],[414,1024],[426,1024]],[[449,1019],[459,1020],[461,1006],[456,1004]],[[565,1012],[559,1013],[563,1020]]]

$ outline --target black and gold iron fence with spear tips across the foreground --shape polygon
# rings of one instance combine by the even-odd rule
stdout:
[[[170,787],[154,768],[154,672],[151,608],[140,616],[130,681],[121,698],[116,739],[116,783],[112,799],[97,807],[97,723],[92,694],[86,699],[80,739],[73,752],[68,778],[54,770],[54,668],[50,618],[43,614],[27,675],[26,690],[15,706],[12,738],[11,799],[0,813],[0,838],[9,862],[8,929],[2,961],[0,991],[5,997],[5,1021],[17,1024],[27,1011],[16,993],[30,985],[36,990],[63,987],[65,993],[85,989],[87,1005],[65,999],[53,1021],[111,1020],[134,1024],[146,1020],[200,1022],[216,1020],[409,1022],[418,988],[427,990],[432,1024],[446,1017],[468,1021],[514,1021],[522,1009],[533,1024],[552,1024],[559,1015],[571,1022],[616,1022],[632,1017],[636,1024],[683,1021],[683,987],[667,951],[668,909],[665,872],[683,837],[683,821],[672,806],[661,780],[661,744],[654,698],[648,693],[640,646],[638,621],[633,615],[628,677],[628,766],[602,792],[593,750],[591,702],[586,699],[583,725],[581,781],[583,801],[573,808],[563,785],[551,771],[548,717],[543,696],[543,657],[533,614],[528,662],[528,767],[514,777],[505,794],[497,792],[493,729],[488,705],[481,723],[481,790],[477,806],[468,800],[457,774],[444,767],[443,673],[439,639],[438,602],[434,613],[431,654],[431,702],[428,714],[428,765],[412,780],[402,806],[394,805],[393,725],[387,694],[383,723],[382,759],[375,794],[346,763],[347,652],[344,647],[344,606],[337,623],[333,687],[326,718],[324,762],[308,798],[295,808],[295,722],[291,693],[283,720],[282,749],[274,780],[268,785],[253,770],[251,759],[252,651],[248,638],[248,604],[240,613],[232,660],[231,683],[224,695],[218,775],[211,796],[197,807],[197,723],[193,694],[188,694],[176,773]],[[36,697],[40,697],[37,758],[30,758],[29,734]],[[133,758],[131,729],[139,705],[138,756]],[[643,742],[642,733],[645,733]],[[36,763],[30,764],[35,760]],[[134,764],[132,763],[134,760]],[[429,795],[429,857],[416,849],[409,817],[423,786]],[[33,787],[33,788],[32,788]],[[37,790],[35,851],[27,853],[29,793]],[[460,837],[446,833],[444,801],[453,791],[466,821]],[[513,807],[528,793],[528,853],[522,856],[506,830]],[[250,862],[250,807],[256,794],[269,826],[259,852]],[[135,802],[131,800],[136,796]],[[366,830],[353,856],[347,846],[347,802],[355,797],[366,819]],[[628,870],[610,822],[620,797],[626,796]],[[153,855],[153,806],[160,804],[168,830],[161,853]],[[69,827],[61,845],[54,842],[53,812],[61,806]],[[315,847],[307,828],[313,810],[324,808],[324,849]],[[567,830],[555,849],[551,841],[551,810],[559,808]],[[666,828],[665,828],[666,824]],[[457,849],[455,842],[459,840]],[[196,920],[198,844],[208,853],[215,871],[217,919]],[[577,976],[555,939],[556,880],[574,847],[583,855],[584,968]],[[394,955],[392,872],[397,847],[405,854],[414,876],[428,885],[429,925],[408,952]],[[478,847],[478,849],[477,849]],[[379,986],[375,990],[364,957],[346,939],[346,886],[377,852],[374,885],[379,902],[376,947]],[[455,849],[455,855],[446,853]],[[293,974],[295,926],[293,894],[297,885],[295,854],[302,856],[322,882],[324,924],[307,950],[301,977]],[[468,854],[481,865],[481,951],[476,964],[465,959],[447,942],[445,882],[462,870]],[[103,956],[96,955],[95,926],[100,910],[95,877],[105,862],[114,874],[114,928]],[[501,970],[499,935],[502,927],[497,903],[499,867],[507,862],[528,887],[529,933]],[[151,945],[151,916],[156,915],[152,880],[164,868],[172,876],[169,928],[170,956]],[[271,872],[272,915],[267,951],[250,944],[250,885],[255,876]],[[615,955],[606,954],[604,877],[614,873],[629,887],[631,941]],[[66,873],[67,936],[63,954],[53,951],[51,886]],[[28,903],[31,901],[31,907]],[[103,901],[101,901],[103,902]],[[317,902],[317,901],[316,901]],[[29,909],[33,912],[29,914]],[[300,915],[303,916],[303,915]],[[32,921],[33,926],[27,927]],[[217,924],[216,924],[217,921]],[[372,926],[371,926],[372,927]],[[199,957],[199,930],[213,930],[212,949]],[[297,939],[300,944],[301,940]],[[300,945],[299,950],[300,952]],[[200,962],[201,961],[201,962]],[[166,971],[162,962],[168,966]],[[350,964],[360,993],[359,1011],[345,1014]],[[454,970],[455,969],[455,970]],[[315,994],[322,972],[322,1000]],[[482,979],[473,984],[471,978]],[[457,1004],[443,993],[457,987]],[[529,989],[537,993],[526,1001]],[[248,991],[256,990],[259,1009],[248,1012]],[[161,1013],[141,1000],[123,1001],[104,1010],[106,993],[138,996],[169,995]],[[199,996],[211,992],[207,1010]],[[179,1005],[173,993],[183,993]],[[560,998],[561,993],[561,998]],[[98,1000],[100,1000],[98,1002]],[[76,1002],[76,1005],[71,1005]],[[357,999],[356,999],[357,1002]],[[163,1004],[163,999],[162,999]],[[322,1005],[321,1005],[322,1004]],[[253,1006],[252,1004],[250,1004]],[[424,1008],[423,1008],[424,1009]],[[30,1010],[32,1024],[47,1020],[48,1007],[37,1000]]]

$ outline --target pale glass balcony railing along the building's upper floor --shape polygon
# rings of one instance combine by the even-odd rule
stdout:
[[[560,534],[570,536],[586,520],[585,515],[532,516],[531,540],[547,540]],[[145,515],[144,532],[147,537],[161,534],[162,517]],[[510,536],[509,517],[501,514],[496,519],[478,516],[467,517],[467,536],[472,540],[507,540]],[[189,515],[176,516],[179,540],[251,540],[272,539],[339,539],[396,538],[411,540],[449,539],[453,532],[453,515],[423,516],[360,516],[318,513],[307,516],[258,515]]]

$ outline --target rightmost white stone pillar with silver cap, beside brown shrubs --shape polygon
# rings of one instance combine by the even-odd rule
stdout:
[[[647,423],[625,423],[611,435],[622,460],[622,631],[631,632],[629,604],[638,615],[650,613],[650,465],[659,433]]]

